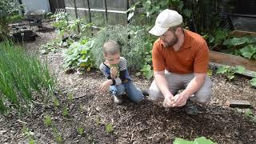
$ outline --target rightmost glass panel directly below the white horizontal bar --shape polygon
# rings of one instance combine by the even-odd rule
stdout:
[[[116,25],[121,24],[125,26],[127,24],[127,15],[119,13],[107,13],[108,24]]]

